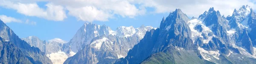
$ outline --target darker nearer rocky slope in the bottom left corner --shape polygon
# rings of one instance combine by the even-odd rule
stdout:
[[[31,61],[9,41],[0,37],[0,63],[1,64],[32,64]]]

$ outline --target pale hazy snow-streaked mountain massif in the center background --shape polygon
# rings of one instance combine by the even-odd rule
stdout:
[[[154,28],[122,26],[112,31],[105,25],[85,23],[73,39],[65,44],[66,48],[71,48],[68,52],[78,52],[68,58],[64,64],[113,64],[116,59],[125,57],[150,29]],[[64,48],[64,51],[67,50]]]

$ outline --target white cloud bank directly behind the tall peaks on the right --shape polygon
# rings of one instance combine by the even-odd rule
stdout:
[[[242,5],[256,7],[252,0],[135,0],[135,3],[141,4],[142,7],[152,7],[155,13],[166,13],[180,8],[188,16],[198,17],[210,7],[214,7],[221,14],[232,15],[235,8]]]

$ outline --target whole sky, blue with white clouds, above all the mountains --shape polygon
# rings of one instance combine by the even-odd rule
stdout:
[[[105,24],[111,27],[112,30],[115,30],[119,26],[140,27],[141,25],[145,25],[159,27],[163,16],[167,17],[169,12],[175,10],[175,8],[180,8],[183,13],[186,13],[191,18],[192,16],[198,17],[210,7],[214,7],[215,10],[219,10],[221,14],[225,16],[231,15],[235,8],[239,9],[242,5],[250,5],[253,9],[255,7],[254,2],[251,0],[223,1],[223,3],[229,4],[218,4],[219,2],[222,2],[222,0],[210,2],[198,0],[200,2],[192,1],[189,3],[183,2],[186,0],[178,2],[175,0],[170,0],[168,2],[165,0],[152,1],[153,2],[147,2],[147,0],[125,0],[120,2],[104,2],[106,4],[99,3],[100,5],[90,3],[88,5],[80,5],[78,2],[72,2],[74,4],[70,5],[64,3],[64,1],[63,3],[58,3],[51,0],[24,0],[24,2],[17,0],[3,0],[2,3],[6,4],[0,4],[0,15],[17,19],[16,21],[12,20],[6,22],[6,24],[19,37],[37,36],[41,40],[61,38],[62,40],[69,41],[84,22],[92,22],[99,25]],[[229,1],[232,2],[230,3]],[[9,5],[10,3],[11,5]],[[110,5],[116,3],[121,4]],[[84,4],[86,3],[84,2]],[[125,5],[123,6],[122,4]],[[34,5],[35,7],[26,7],[29,5]],[[50,8],[51,6],[53,8]],[[88,11],[87,9],[92,10]],[[52,14],[48,13],[49,15],[44,16],[40,15],[42,12],[39,11],[43,11],[43,13],[52,13],[52,11],[57,12],[53,12]]]

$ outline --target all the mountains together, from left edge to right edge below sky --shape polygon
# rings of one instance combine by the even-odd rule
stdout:
[[[248,5],[198,18],[176,9],[160,26],[84,23],[70,41],[19,38],[0,21],[0,64],[256,64],[256,13]]]

